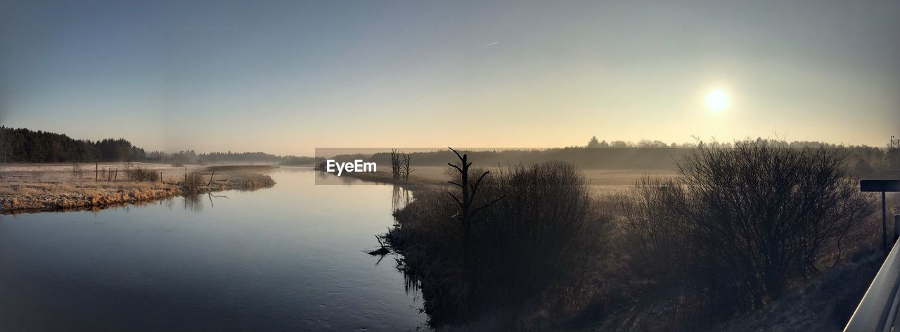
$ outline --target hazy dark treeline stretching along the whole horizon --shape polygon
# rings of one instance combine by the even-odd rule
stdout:
[[[72,139],[64,134],[0,126],[0,162],[2,163],[69,163],[69,162],[121,162],[149,161],[166,164],[215,164],[215,163],[269,163],[281,165],[312,165],[313,157],[277,156],[263,152],[211,152],[197,154],[193,150],[166,153],[145,152],[126,139],[102,139],[91,141]],[[900,168],[900,139],[891,138],[887,148],[836,145],[818,141],[780,141],[792,148],[845,148],[850,156],[848,167],[852,174],[869,175],[873,171]],[[712,148],[730,148],[730,142],[706,143]],[[666,144],[659,140],[607,142],[591,138],[586,145],[569,148],[508,149],[496,151],[466,151],[482,166],[531,165],[548,160],[569,162],[582,168],[607,169],[671,169],[674,160],[697,148],[695,143]],[[402,152],[402,151],[400,151]],[[410,153],[415,166],[445,166],[455,157],[450,150]],[[340,155],[338,160],[365,158],[379,164],[379,168],[391,165],[390,153],[374,155]],[[383,168],[388,169],[388,168]]]

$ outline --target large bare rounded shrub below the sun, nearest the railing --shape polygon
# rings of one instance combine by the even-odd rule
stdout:
[[[837,148],[764,141],[701,145],[673,181],[644,180],[623,203],[632,265],[680,284],[698,310],[725,317],[777,299],[818,272],[871,212]]]

